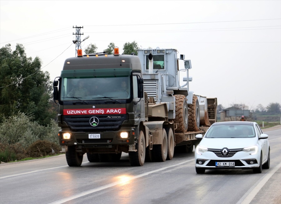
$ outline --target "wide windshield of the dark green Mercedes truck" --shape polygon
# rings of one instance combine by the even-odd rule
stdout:
[[[129,99],[130,77],[64,77],[61,100],[105,100]]]

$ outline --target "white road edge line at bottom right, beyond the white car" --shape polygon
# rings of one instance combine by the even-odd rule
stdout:
[[[247,191],[244,196],[236,203],[236,204],[249,204],[253,198],[257,195],[257,193],[259,192],[259,190],[265,185],[265,183],[270,179],[270,177],[281,167],[281,163],[279,163],[279,165],[275,166],[274,169],[272,169],[268,174],[266,174],[264,176],[263,179],[261,179],[261,181],[257,181],[253,186],[254,189],[252,190],[252,188],[249,189],[249,191]],[[246,198],[244,198],[246,196]],[[243,200],[244,199],[244,200]],[[242,202],[241,202],[242,200]]]

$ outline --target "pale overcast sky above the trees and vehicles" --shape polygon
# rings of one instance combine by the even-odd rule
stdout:
[[[224,108],[281,104],[281,1],[5,1],[0,0],[0,46],[23,44],[42,60],[50,79],[75,57],[75,26],[85,49],[177,49],[190,59],[190,90],[216,97]],[[183,85],[185,82],[182,82]]]

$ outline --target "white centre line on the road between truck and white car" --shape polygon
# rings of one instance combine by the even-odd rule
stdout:
[[[170,165],[170,166],[163,167],[163,168],[160,168],[160,169],[156,169],[156,170],[153,170],[153,171],[149,171],[149,172],[146,172],[146,173],[143,173],[143,174],[139,174],[139,175],[133,176],[132,178],[128,179],[128,181],[133,180],[133,179],[137,179],[137,178],[140,178],[140,177],[143,177],[143,176],[147,176],[149,174],[153,174],[153,173],[158,172],[158,171],[163,171],[163,170],[171,168],[171,167],[182,165],[182,164],[185,164],[185,163],[193,161],[193,160],[195,160],[195,159],[190,159],[190,160],[183,161],[183,162],[180,162],[180,163],[175,164],[175,165]],[[123,181],[116,181],[116,182],[107,184],[105,186],[102,186],[100,188],[95,188],[95,189],[92,189],[92,190],[89,190],[89,191],[85,191],[85,192],[79,193],[77,195],[68,197],[68,198],[64,198],[64,199],[52,202],[51,204],[61,204],[61,203],[64,203],[64,202],[67,202],[67,201],[70,201],[70,200],[73,200],[73,199],[76,199],[76,198],[79,198],[79,197],[82,197],[82,196],[86,196],[88,194],[91,194],[91,193],[94,193],[94,192],[97,192],[97,191],[101,191],[101,190],[106,189],[106,188],[110,188],[112,186],[116,186],[116,185],[122,184],[122,183],[124,183],[124,182]]]

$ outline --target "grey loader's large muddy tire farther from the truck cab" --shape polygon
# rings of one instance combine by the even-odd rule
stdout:
[[[198,131],[200,125],[200,108],[197,96],[193,96],[192,104],[189,104],[188,108],[188,130]]]

